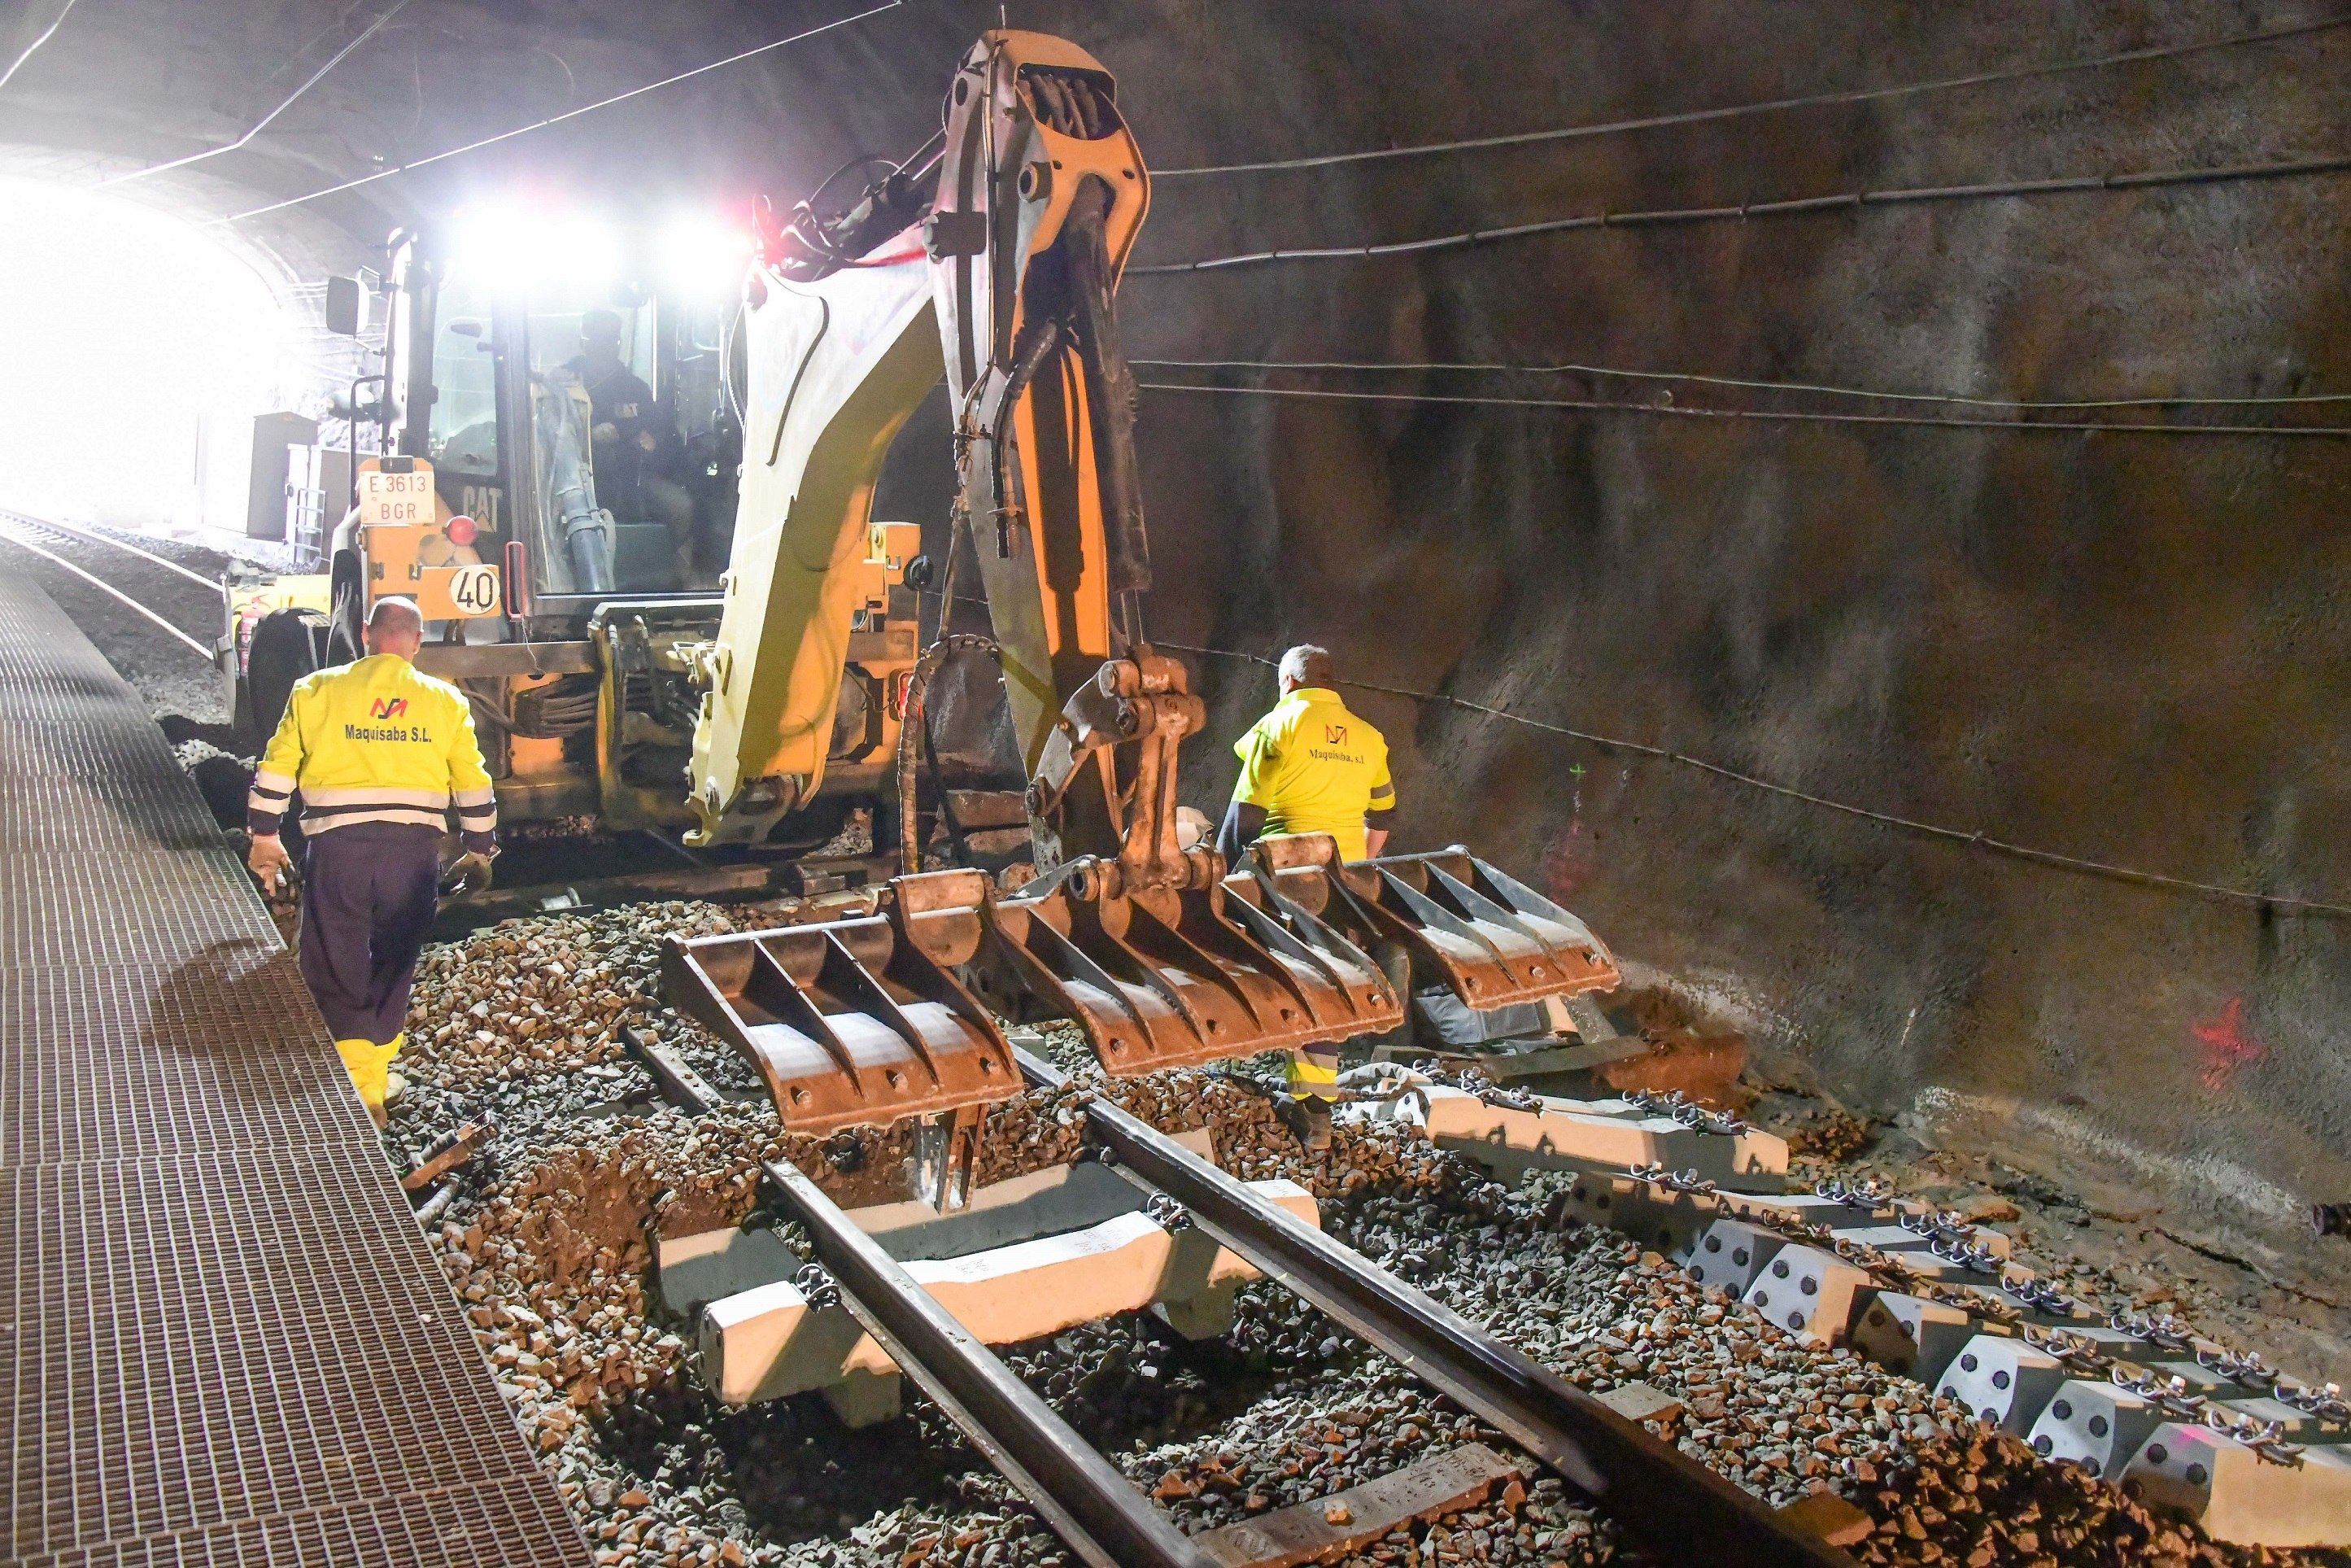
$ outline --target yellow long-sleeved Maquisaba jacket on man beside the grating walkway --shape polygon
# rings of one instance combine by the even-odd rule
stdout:
[[[277,832],[296,788],[308,835],[353,823],[447,827],[454,802],[465,849],[487,853],[496,844],[498,802],[465,696],[395,654],[294,684],[287,717],[254,769],[247,830]]]

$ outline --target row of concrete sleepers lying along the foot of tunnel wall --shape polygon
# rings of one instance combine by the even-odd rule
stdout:
[[[1735,1154],[1751,1128],[1681,1095],[1570,1103],[1425,1079],[1420,1112],[1439,1147],[1498,1173],[1552,1171],[1554,1222],[1617,1229],[2041,1460],[2226,1542],[2351,1540],[2351,1403],[2332,1382],[2280,1375],[2165,1312],[2097,1312],[2015,1260],[2005,1234],[1883,1182],[1787,1190]],[[1629,1138],[1648,1140],[1641,1157],[1606,1168]]]

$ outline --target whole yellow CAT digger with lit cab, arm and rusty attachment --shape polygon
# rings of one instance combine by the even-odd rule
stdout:
[[[1178,748],[1204,708],[1143,621],[1117,331],[1147,207],[1100,61],[992,31],[929,146],[839,212],[769,212],[738,327],[663,324],[658,301],[623,322],[647,386],[682,388],[679,407],[724,393],[741,353],[741,418],[710,404],[708,498],[734,503],[717,592],[675,581],[691,562],[670,522],[616,505],[630,487],[564,360],[588,336],[581,301],[534,313],[404,242],[388,456],[362,463],[324,578],[247,607],[245,708],[270,717],[273,646],[348,651],[367,604],[402,592],[437,632],[418,665],[456,679],[494,741],[508,820],[595,813],[762,844],[842,792],[896,799],[900,875],[870,914],[672,940],[663,976],[795,1131],[917,1119],[919,1182],[943,1208],[983,1110],[1020,1088],[1004,1020],[1070,1018],[1124,1077],[1380,1034],[1432,985],[1481,1011],[1613,987],[1582,922],[1465,849],[1342,863],[1302,835],[1230,867],[1180,839]],[[872,501],[940,376],[959,489],[936,588],[947,609],[969,597],[971,562],[992,635],[917,656],[912,529],[875,524]],[[915,764],[983,750],[924,717],[952,656],[1002,665],[1027,853],[997,875],[922,870]]]

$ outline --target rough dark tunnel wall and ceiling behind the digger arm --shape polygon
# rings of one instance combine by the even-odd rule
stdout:
[[[54,2],[19,12],[19,45]],[[851,9],[411,0],[252,148],[143,190],[197,214],[284,200]],[[1119,73],[1161,169],[1925,82],[2316,14],[2069,0],[2029,24],[1878,0],[1009,9]],[[374,14],[87,0],[0,89],[0,143],[12,167],[94,179],[230,141]],[[515,183],[623,205],[792,197],[856,153],[917,146],[952,61],[994,19],[994,5],[903,5],[245,233],[341,266],[393,223]],[[1585,141],[1161,179],[1143,261],[2342,153],[2346,66],[2351,35],[2327,31]],[[1124,310],[1145,360],[2311,395],[2351,386],[2346,216],[2339,174],[1954,200],[1133,277]],[[2351,891],[2342,437],[1697,418],[1667,404],[1935,409],[1603,376],[1286,386],[1422,400],[1147,388],[1161,635],[1251,654],[1314,637],[1361,679],[1961,835],[2266,896]],[[1632,407],[1441,402],[1462,395]],[[2351,423],[2351,407],[2165,418]],[[1208,658],[1204,675],[1218,733],[1267,698],[1253,665]],[[1458,708],[1361,708],[1396,743],[1406,839],[1476,844],[1855,1103],[2012,1095],[2271,1218],[2285,1190],[2351,1182],[2351,966],[2335,917],[2034,865]],[[1194,804],[1215,809],[1230,759],[1201,745],[1187,766]]]

